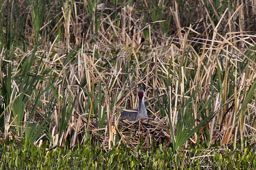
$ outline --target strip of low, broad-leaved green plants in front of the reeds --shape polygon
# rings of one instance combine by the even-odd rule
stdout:
[[[188,146],[179,153],[161,144],[156,151],[132,151],[125,145],[105,150],[93,146],[90,142],[71,149],[69,147],[52,148],[44,142],[41,147],[30,145],[21,140],[19,144],[13,137],[11,144],[0,142],[1,169],[255,169],[256,152],[247,145],[243,151],[232,151],[230,147],[206,148],[206,142]]]

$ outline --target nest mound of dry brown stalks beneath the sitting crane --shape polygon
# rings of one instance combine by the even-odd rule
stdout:
[[[87,119],[85,117],[81,117],[81,119],[87,126]],[[111,127],[106,125],[105,128],[101,129],[97,129],[96,120],[91,119],[89,125],[92,137],[95,139],[100,138],[100,147],[109,147],[109,142],[111,141],[110,139],[112,139],[113,143],[116,145],[116,135],[118,135],[120,139],[119,144],[124,142],[130,148],[136,147],[137,145],[141,144],[141,142],[144,148],[150,148],[151,144],[153,144],[153,141],[155,147],[164,141],[166,141],[166,144],[170,143],[170,128],[167,117],[164,117],[159,121],[117,121],[113,122]],[[108,128],[112,129],[113,138],[109,137],[112,134],[108,131]],[[98,131],[100,130],[104,130],[105,132],[99,134]]]

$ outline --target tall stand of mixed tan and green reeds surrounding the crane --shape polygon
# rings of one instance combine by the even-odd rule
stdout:
[[[5,139],[14,134],[37,145],[48,139],[53,146],[91,139],[108,149],[122,142],[149,147],[161,140],[171,141],[173,150],[189,142],[220,141],[234,148],[254,143],[245,137],[255,129],[256,46],[247,32],[253,28],[243,24],[245,18],[247,25],[254,22],[252,6],[110,4],[1,4],[10,9],[0,11]],[[126,126],[119,113],[137,106],[140,88],[150,119],[143,128]]]

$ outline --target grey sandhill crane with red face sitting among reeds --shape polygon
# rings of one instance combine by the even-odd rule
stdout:
[[[140,118],[147,118],[148,114],[144,103],[144,95],[144,90],[139,90],[139,109],[128,109],[133,111],[122,111],[121,117],[123,117],[124,119],[127,118],[129,121],[136,121]]]

